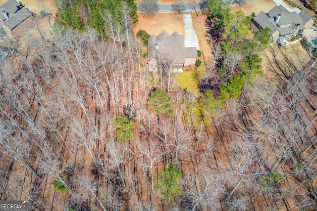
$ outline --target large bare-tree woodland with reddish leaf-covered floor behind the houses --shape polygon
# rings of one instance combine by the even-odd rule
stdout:
[[[107,38],[62,24],[7,49],[0,200],[35,211],[316,210],[316,51],[284,54],[270,61],[276,82],[256,80],[263,43],[243,37],[249,19],[230,13],[225,27],[209,2],[211,32],[227,36],[214,37],[205,89],[192,93],[171,81],[172,59],[144,71],[125,5]]]

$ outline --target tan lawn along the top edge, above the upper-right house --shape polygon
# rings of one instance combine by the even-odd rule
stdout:
[[[273,0],[255,0],[242,5],[242,7],[239,5],[232,6],[231,12],[242,10],[246,15],[251,15],[253,12],[257,15],[261,11],[268,12],[274,6],[276,6],[276,3]]]

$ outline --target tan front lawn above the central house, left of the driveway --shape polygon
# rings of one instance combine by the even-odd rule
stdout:
[[[139,21],[134,27],[134,34],[143,29],[150,35],[159,35],[163,30],[168,34],[178,32],[178,34],[185,35],[183,14],[159,13],[148,17],[139,13],[138,19]]]

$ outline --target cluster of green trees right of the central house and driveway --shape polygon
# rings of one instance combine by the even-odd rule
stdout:
[[[214,53],[217,75],[204,82],[218,82],[218,89],[211,93],[214,97],[218,96],[216,102],[224,102],[238,97],[245,82],[251,82],[256,75],[262,75],[262,59],[256,53],[270,42],[270,30],[260,30],[255,38],[250,40],[248,35],[255,13],[250,16],[245,16],[242,11],[231,13],[222,0],[205,0],[204,5],[217,46],[214,51],[217,52]],[[218,78],[222,80],[219,81]],[[206,96],[202,99],[206,101]]]

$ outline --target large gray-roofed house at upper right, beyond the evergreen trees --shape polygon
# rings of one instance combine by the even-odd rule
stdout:
[[[267,14],[260,12],[252,19],[254,31],[268,27],[272,31],[273,43],[279,42],[280,44],[290,41],[294,36],[301,35],[313,24],[313,17],[305,10],[300,13],[289,12],[282,5],[274,6]]]

